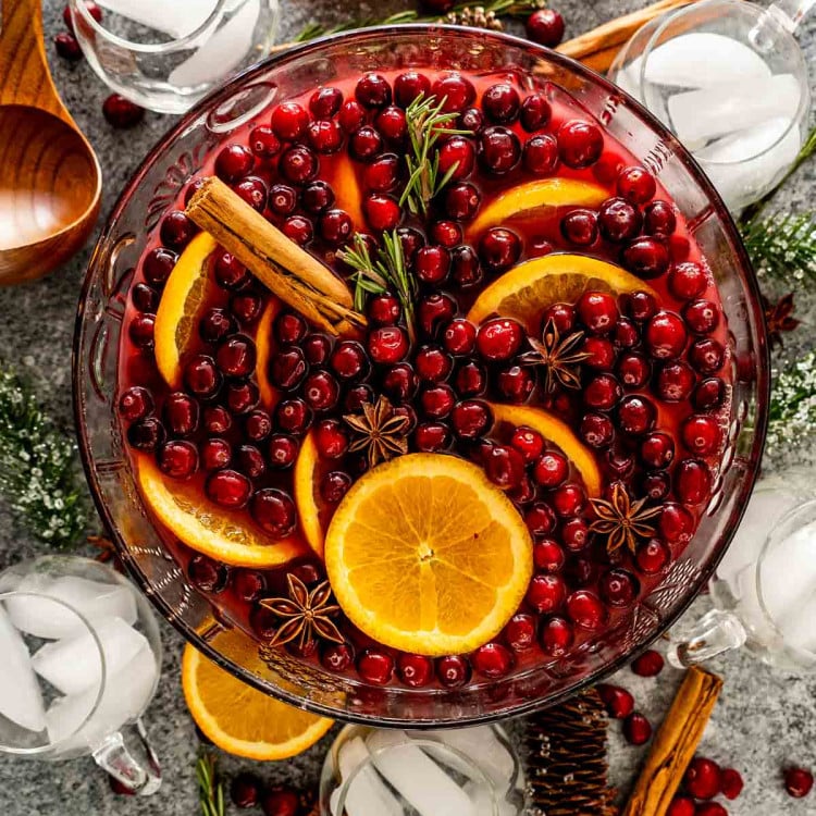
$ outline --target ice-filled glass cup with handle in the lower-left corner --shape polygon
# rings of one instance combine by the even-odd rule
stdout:
[[[90,755],[135,793],[161,769],[139,717],[156,693],[161,639],[150,605],[110,567],[45,556],[0,573],[0,753]]]

